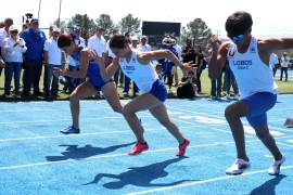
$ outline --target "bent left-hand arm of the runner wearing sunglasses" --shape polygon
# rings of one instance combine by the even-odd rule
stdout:
[[[217,79],[225,63],[227,56],[227,43],[219,46],[218,38],[212,36],[209,39],[212,44],[212,54],[208,57],[208,77],[214,80]]]

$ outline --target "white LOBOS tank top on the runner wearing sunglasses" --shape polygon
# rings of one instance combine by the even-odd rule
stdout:
[[[241,99],[257,92],[278,93],[278,86],[272,77],[272,69],[258,55],[257,39],[251,39],[245,53],[239,53],[237,46],[228,48],[227,58],[234,74]]]

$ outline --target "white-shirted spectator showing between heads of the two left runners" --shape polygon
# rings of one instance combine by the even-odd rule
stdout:
[[[98,28],[95,35],[88,41],[88,48],[95,51],[99,56],[105,55],[106,52],[106,41],[103,37],[104,31],[104,28]]]

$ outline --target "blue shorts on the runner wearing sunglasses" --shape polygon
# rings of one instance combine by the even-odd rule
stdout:
[[[269,92],[259,92],[250,95],[242,101],[250,106],[247,121],[252,127],[259,127],[267,125],[267,112],[272,108],[277,102],[277,94]]]

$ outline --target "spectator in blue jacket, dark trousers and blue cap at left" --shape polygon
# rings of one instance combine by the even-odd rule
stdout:
[[[39,90],[39,81],[42,69],[42,54],[46,35],[39,29],[39,21],[33,18],[29,28],[22,34],[22,38],[26,42],[27,50],[25,52],[25,70],[24,70],[24,90],[23,95],[27,96],[30,87],[34,84],[34,95],[39,96],[42,93]]]

